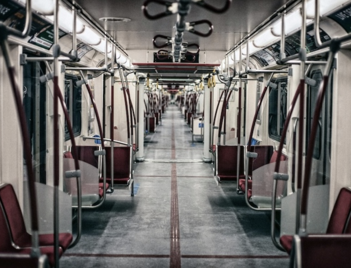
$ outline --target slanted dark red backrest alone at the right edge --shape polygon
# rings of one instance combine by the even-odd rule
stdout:
[[[331,217],[327,228],[327,233],[341,234],[347,226],[351,213],[351,189],[342,188],[331,211]],[[347,230],[346,230],[347,231]],[[349,230],[351,231],[351,230]]]

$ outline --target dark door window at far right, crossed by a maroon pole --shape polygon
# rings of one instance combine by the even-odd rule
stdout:
[[[307,87],[307,126],[306,126],[306,140],[309,140],[310,134],[311,134],[311,127],[312,127],[312,120],[313,120],[313,115],[314,115],[314,110],[315,110],[315,105],[317,102],[317,96],[318,96],[318,89],[320,82],[323,79],[322,71],[321,70],[315,70],[312,71],[311,73],[311,78],[315,80],[317,83],[315,83],[314,86],[308,85]],[[319,159],[321,155],[321,150],[322,150],[322,118],[319,120],[318,124],[318,130],[316,134],[316,140],[313,148],[313,158],[314,159]],[[306,146],[308,146],[308,142],[306,142]],[[306,148],[307,150],[307,148]]]

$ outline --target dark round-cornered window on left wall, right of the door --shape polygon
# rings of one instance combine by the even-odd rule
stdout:
[[[76,86],[80,77],[65,74],[65,103],[67,106],[73,133],[76,136],[81,133],[81,86]],[[67,122],[65,121],[65,140],[69,140]]]

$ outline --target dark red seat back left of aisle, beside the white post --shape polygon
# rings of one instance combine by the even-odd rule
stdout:
[[[106,147],[106,181],[111,182],[111,147]],[[114,147],[114,183],[128,184],[130,178],[130,148]],[[102,180],[100,179],[100,182]]]

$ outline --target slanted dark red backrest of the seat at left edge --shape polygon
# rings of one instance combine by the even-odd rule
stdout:
[[[4,184],[0,187],[0,202],[9,224],[13,241],[16,244],[20,244],[20,241],[28,239],[29,234],[25,228],[20,204],[11,184]]]

